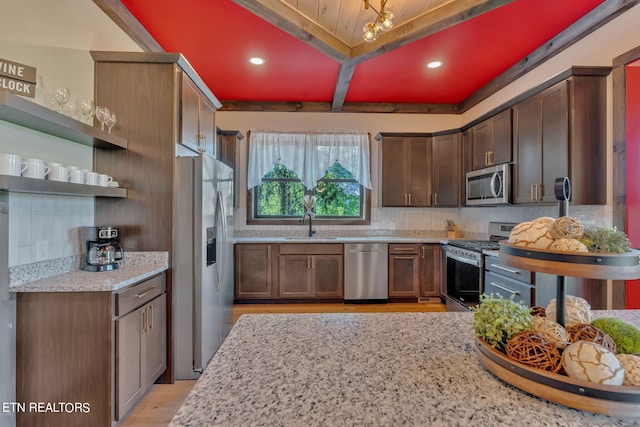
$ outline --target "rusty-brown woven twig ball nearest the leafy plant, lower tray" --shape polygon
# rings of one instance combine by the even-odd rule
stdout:
[[[507,342],[507,355],[525,365],[558,373],[562,357],[558,348],[548,339],[533,331],[514,335]]]

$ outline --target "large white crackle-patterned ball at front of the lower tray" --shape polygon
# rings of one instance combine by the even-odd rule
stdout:
[[[624,368],[616,355],[599,344],[575,342],[562,352],[562,367],[571,378],[597,384],[622,385]]]

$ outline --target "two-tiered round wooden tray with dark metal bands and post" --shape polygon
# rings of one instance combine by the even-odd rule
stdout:
[[[640,277],[640,251],[623,254],[537,250],[500,242],[500,262],[559,276],[557,319],[564,325],[564,276],[627,280]],[[509,358],[476,338],[480,363],[503,381],[535,396],[574,409],[604,415],[640,417],[640,387],[602,385],[534,368]]]

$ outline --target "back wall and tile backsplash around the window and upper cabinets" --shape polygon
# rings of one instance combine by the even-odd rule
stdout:
[[[609,22],[585,39],[574,44],[527,75],[508,85],[482,101],[462,115],[421,114],[354,114],[354,113],[271,113],[271,112],[225,112],[216,115],[220,129],[239,130],[244,135],[250,129],[273,130],[359,130],[370,132],[434,132],[459,128],[486,112],[499,107],[571,66],[611,66],[616,56],[640,45],[640,5]],[[611,76],[608,77],[607,96],[607,152],[612,152]],[[380,145],[372,140],[372,225],[370,228],[429,229],[443,230],[445,220],[452,218],[465,231],[486,232],[489,221],[520,222],[541,214],[557,216],[556,207],[546,208],[464,208],[464,209],[417,209],[381,208],[380,193]],[[269,230],[272,226],[246,225],[246,170],[247,138],[239,148],[239,208],[236,209],[236,230]],[[586,222],[610,225],[612,222],[612,159],[607,158],[606,206],[571,207],[571,212],[580,215]],[[573,183],[579,185],[579,183]],[[322,229],[322,227],[319,227]],[[328,228],[328,227],[327,227]],[[369,228],[369,227],[355,227]]]

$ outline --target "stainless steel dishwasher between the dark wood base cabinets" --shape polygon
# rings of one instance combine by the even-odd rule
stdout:
[[[389,298],[387,244],[346,243],[344,254],[344,302],[387,302]]]

